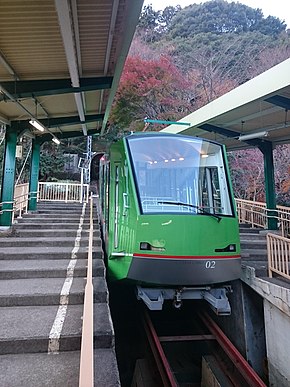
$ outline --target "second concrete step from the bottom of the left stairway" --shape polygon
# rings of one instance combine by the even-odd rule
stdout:
[[[0,307],[0,354],[48,351],[58,305]],[[83,305],[68,305],[60,351],[80,349]],[[106,303],[94,305],[94,348],[112,348],[114,331]]]

